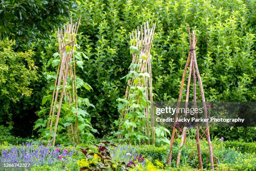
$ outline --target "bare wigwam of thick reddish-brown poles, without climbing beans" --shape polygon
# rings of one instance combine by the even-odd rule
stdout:
[[[204,108],[204,117],[205,117],[205,119],[207,119],[207,108],[206,108],[206,102],[205,102],[205,94],[204,94],[204,89],[203,89],[203,86],[202,86],[202,80],[201,80],[201,77],[200,77],[200,73],[199,73],[199,69],[198,69],[198,65],[197,65],[196,53],[195,53],[195,47],[196,47],[197,39],[195,38],[195,31],[193,31],[193,33],[192,33],[192,42],[191,42],[191,35],[190,35],[189,26],[188,26],[188,33],[189,33],[190,51],[189,51],[187,62],[186,62],[186,65],[185,65],[185,68],[184,68],[184,71],[183,71],[183,75],[182,75],[182,82],[181,82],[181,87],[180,87],[180,92],[179,92],[177,108],[179,108],[179,106],[180,106],[180,102],[181,102],[181,98],[182,98],[182,92],[183,92],[183,84],[184,84],[184,80],[185,80],[185,75],[186,75],[186,72],[187,72],[188,64],[189,64],[189,61],[190,61],[190,64],[189,64],[189,75],[188,75],[188,80],[187,80],[187,91],[186,91],[185,108],[188,107],[188,102],[189,102],[189,86],[190,86],[191,74],[193,72],[193,100],[194,100],[194,108],[197,108],[197,98],[196,98],[196,77],[197,77],[197,80],[198,80],[199,86],[200,86],[201,97],[202,97],[202,105],[203,105],[203,108]],[[186,116],[186,114],[187,113],[185,113],[185,116]],[[177,113],[175,114],[175,122],[174,122],[174,127],[173,127],[173,130],[172,130],[171,140],[170,140],[169,156],[168,156],[168,160],[167,160],[169,166],[171,166],[171,163],[172,163],[172,146],[173,146],[173,143],[174,143],[174,136],[175,136],[175,130],[176,130],[176,124],[177,124],[176,120],[177,120],[178,115],[179,115],[179,110],[177,110]],[[195,117],[197,118],[197,113],[195,113]],[[187,130],[187,127],[183,127],[183,129],[182,129],[182,136],[181,136],[181,142],[179,144],[180,150],[179,150],[178,155],[177,155],[177,164],[176,164],[177,167],[179,167],[179,163],[180,163],[180,156],[181,156],[181,151],[182,151],[181,147],[185,143],[186,130]],[[211,169],[212,169],[212,171],[214,171],[214,161],[213,161],[213,154],[212,154],[212,143],[211,143],[211,140],[210,140],[210,132],[209,132],[208,122],[206,122],[206,130],[202,130],[202,132],[203,132],[203,134],[206,135],[206,138],[207,138],[209,152],[210,152]],[[202,136],[201,136],[201,138],[202,138]],[[197,146],[197,156],[198,156],[198,161],[199,161],[199,168],[203,168],[203,166],[202,166],[202,156],[201,156],[201,150],[200,150],[200,139],[201,138],[200,138],[200,135],[199,135],[199,127],[196,127],[196,142],[197,142],[196,146]],[[195,146],[191,147],[191,148],[195,148]],[[191,156],[189,156],[189,158],[190,157]]]

